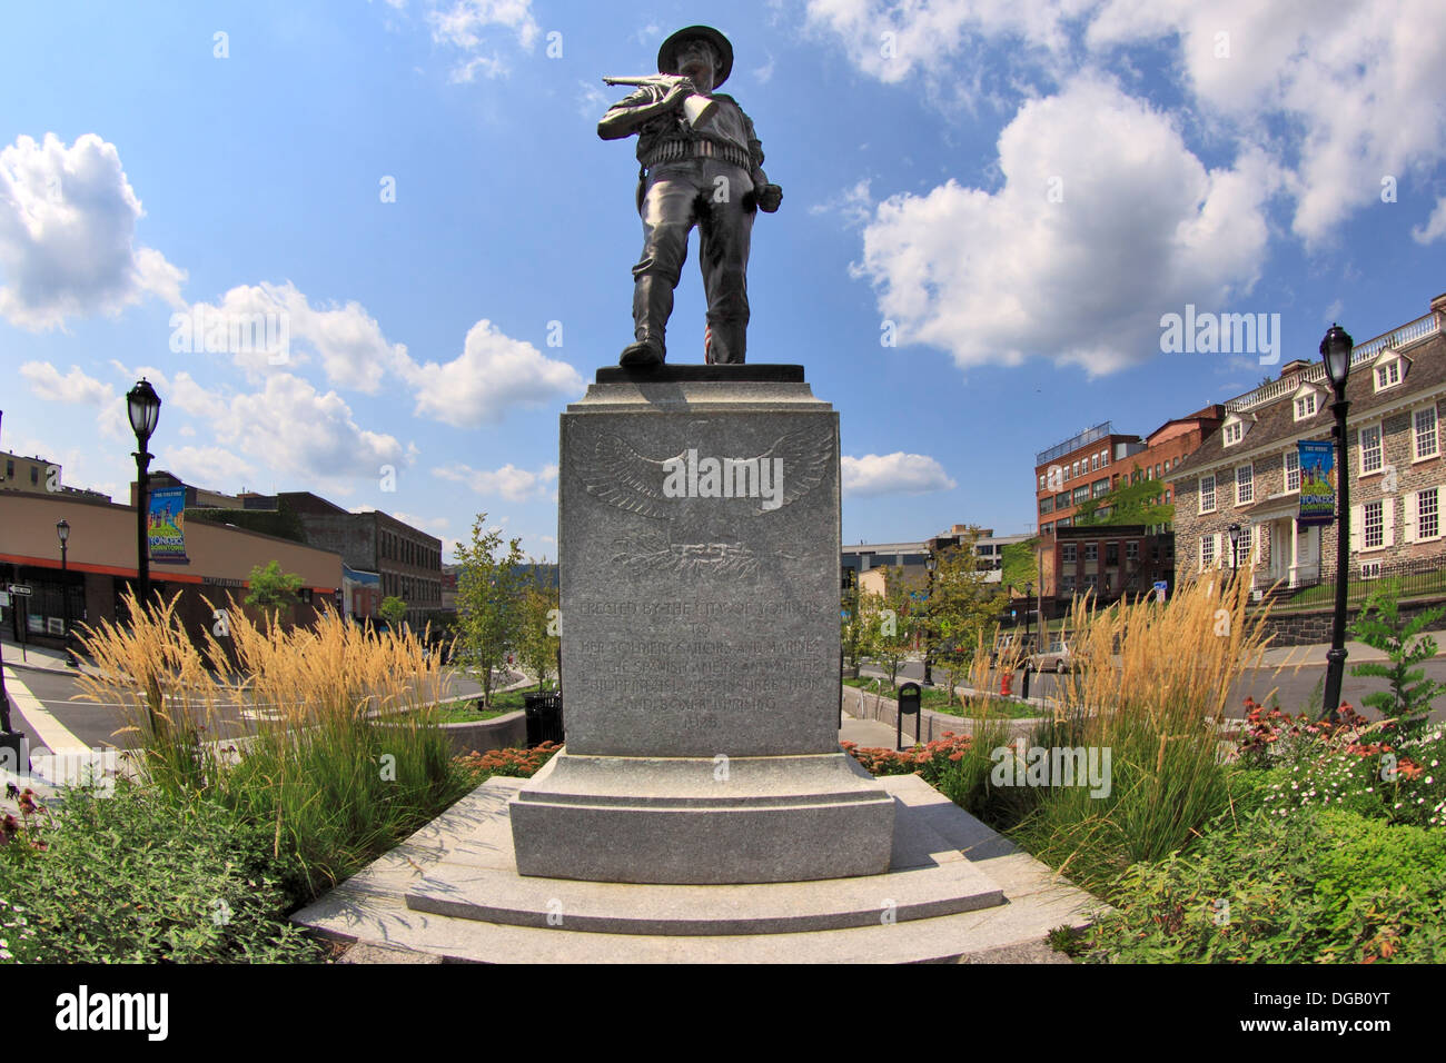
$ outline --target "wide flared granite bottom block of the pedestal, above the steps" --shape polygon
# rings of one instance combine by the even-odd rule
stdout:
[[[846,754],[558,754],[509,814],[522,875],[594,882],[788,882],[889,866],[894,798]]]

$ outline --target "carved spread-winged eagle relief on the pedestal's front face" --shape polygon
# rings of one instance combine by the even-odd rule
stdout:
[[[740,537],[740,518],[758,519],[788,506],[829,474],[833,438],[801,428],[758,456],[700,454],[685,448],[667,458],[639,454],[603,435],[578,477],[589,495],[629,513],[665,521],[617,541],[615,564],[680,574],[759,576],[758,557]]]

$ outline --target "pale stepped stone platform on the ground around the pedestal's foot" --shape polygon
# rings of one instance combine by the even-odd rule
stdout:
[[[518,875],[522,780],[493,778],[292,921],[395,962],[1060,962],[1048,931],[1102,907],[918,775],[879,782],[898,808],[884,875],[632,885]]]

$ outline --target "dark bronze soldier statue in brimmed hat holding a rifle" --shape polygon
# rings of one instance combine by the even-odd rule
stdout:
[[[658,49],[658,77],[604,78],[638,85],[597,123],[604,140],[638,133],[642,257],[633,266],[633,337],[623,366],[661,366],[672,289],[698,227],[709,314],[704,360],[743,364],[748,247],[753,215],[772,214],[784,189],[763,174],[752,120],[714,90],[733,68],[733,46],[711,26],[688,26]]]

